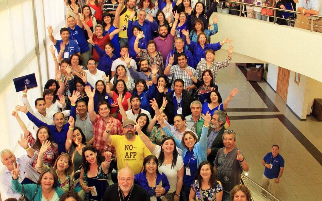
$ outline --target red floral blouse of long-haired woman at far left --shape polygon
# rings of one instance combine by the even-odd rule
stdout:
[[[31,132],[29,132],[28,136],[30,136],[29,140],[28,140],[28,144],[33,148],[33,145],[35,145],[36,143],[36,139],[33,137],[33,135],[31,134]],[[36,159],[33,161],[33,168],[35,168],[36,164],[37,164],[37,160],[38,160],[38,154],[39,154],[39,149],[34,149],[37,157]],[[53,167],[55,160],[58,158],[58,145],[56,143],[51,143],[50,148],[46,151],[46,153],[43,155],[43,162],[45,163],[45,165],[47,165],[48,167]]]

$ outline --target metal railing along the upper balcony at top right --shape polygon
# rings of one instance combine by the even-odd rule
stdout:
[[[274,15],[273,16],[270,16],[270,15],[265,15],[265,14],[261,14],[260,15],[265,15],[265,16],[269,16],[269,17],[274,17],[274,24],[276,23],[276,20],[277,19],[283,19],[283,20],[289,20],[289,21],[293,21],[295,22],[295,20],[290,20],[290,19],[285,19],[285,18],[282,18],[282,17],[276,17],[276,11],[283,11],[283,12],[287,12],[287,13],[293,13],[293,14],[301,14],[300,12],[298,11],[291,11],[291,10],[286,10],[286,9],[280,9],[280,8],[275,8],[275,7],[269,7],[269,6],[264,6],[264,5],[255,5],[255,4],[247,4],[247,3],[242,3],[242,2],[236,2],[236,1],[221,1],[221,2],[226,2],[226,3],[231,3],[231,4],[238,4],[238,5],[248,5],[248,6],[252,6],[252,7],[260,7],[260,8],[266,8],[266,9],[271,9],[274,11]],[[232,8],[225,8],[225,9],[229,9],[229,10],[234,10],[234,11],[239,11],[239,16],[241,17],[242,16],[242,12],[245,12],[247,13],[247,11],[244,11],[242,10],[242,6],[240,6],[239,10],[237,9],[232,9]],[[295,9],[295,8],[294,8]],[[253,13],[253,12],[251,12]],[[258,14],[258,13],[253,13],[253,14]],[[311,24],[311,32],[313,32],[313,25],[314,25],[314,20],[316,19],[321,19],[322,16],[321,15],[311,15],[311,23],[306,23],[306,22],[300,22],[300,21],[297,21],[298,23],[304,23],[304,24]],[[320,25],[314,25],[314,26],[319,26],[321,27]]]

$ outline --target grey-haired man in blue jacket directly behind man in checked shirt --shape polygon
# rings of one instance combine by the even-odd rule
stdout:
[[[194,66],[194,57],[192,56],[191,51],[187,50],[184,48],[185,42],[181,37],[175,39],[175,49],[171,50],[166,57],[166,66],[169,64],[169,57],[171,55],[175,55],[174,57],[174,62],[172,65],[177,65],[178,64],[178,55],[180,53],[185,53],[188,59],[188,66],[191,66],[192,68],[195,68]]]

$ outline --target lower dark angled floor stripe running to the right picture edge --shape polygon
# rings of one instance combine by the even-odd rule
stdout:
[[[273,119],[277,118],[283,125],[293,134],[293,136],[300,142],[306,150],[322,165],[322,153],[300,132],[296,126],[289,121],[284,114],[270,114],[270,115],[243,115],[243,116],[229,116],[230,120],[243,119]]]

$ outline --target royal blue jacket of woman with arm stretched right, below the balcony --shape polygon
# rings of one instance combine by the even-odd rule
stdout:
[[[220,45],[220,42],[214,43],[214,44],[205,44],[204,49],[202,49],[201,45],[197,42],[190,41],[190,44],[188,44],[188,47],[193,50],[194,54],[194,66],[197,67],[197,64],[199,61],[201,61],[201,58],[206,58],[206,50],[212,49],[214,51],[220,50],[222,47]]]

